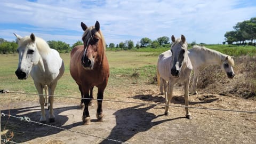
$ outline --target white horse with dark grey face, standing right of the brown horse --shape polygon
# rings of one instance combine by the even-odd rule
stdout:
[[[158,57],[157,62],[157,81],[164,83],[164,94],[166,99],[165,115],[169,115],[170,101],[173,97],[173,86],[175,83],[184,83],[185,106],[188,106],[188,88],[192,65],[188,57],[188,44],[185,36],[175,39],[172,36],[171,51],[163,52]],[[166,85],[166,83],[168,83]],[[166,86],[168,86],[166,94]],[[191,119],[188,107],[185,108],[186,117]]]

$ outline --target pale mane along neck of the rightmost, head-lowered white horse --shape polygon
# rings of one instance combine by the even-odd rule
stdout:
[[[205,51],[211,53],[212,55],[219,56],[221,57],[221,60],[225,60],[228,57],[228,63],[230,63],[231,66],[235,65],[234,59],[227,54],[223,54],[221,52],[209,49],[205,46],[194,45],[193,48],[196,48],[196,51]]]

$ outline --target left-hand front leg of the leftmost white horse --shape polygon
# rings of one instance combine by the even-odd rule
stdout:
[[[43,93],[43,86],[41,84],[38,84],[38,83],[34,83],[35,86],[36,86],[36,90],[39,94],[39,103],[41,105],[41,117],[39,119],[39,122],[41,123],[46,123],[46,117],[45,117],[45,110],[44,110],[44,102],[45,102],[45,99],[44,99],[44,93]]]

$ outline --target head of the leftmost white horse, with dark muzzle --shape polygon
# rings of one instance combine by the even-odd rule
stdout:
[[[15,74],[19,79],[27,79],[29,73],[34,65],[37,65],[40,55],[36,46],[36,37],[34,34],[30,36],[21,37],[14,34],[17,37],[19,53],[19,63]]]

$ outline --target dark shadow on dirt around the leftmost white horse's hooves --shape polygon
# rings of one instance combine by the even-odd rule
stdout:
[[[62,115],[61,113],[67,110],[77,110],[79,109],[78,106],[67,106],[67,107],[59,107],[54,108],[54,115],[56,121],[50,123],[49,121],[46,122],[48,125],[62,127],[64,129],[71,129],[74,127],[75,124],[67,124],[69,115]],[[46,110],[47,112],[47,110]],[[27,116],[30,118],[31,121],[39,122],[39,118],[41,117],[41,106],[31,106],[25,108],[17,108],[17,109],[4,109],[1,110],[1,113],[5,115],[12,115],[16,117],[24,117]],[[46,113],[46,117],[48,113]],[[66,124],[65,124],[66,123]],[[82,124],[82,122],[80,123]],[[63,126],[65,125],[65,126]],[[29,140],[33,140],[35,138],[46,137],[47,135],[52,135],[59,133],[63,130],[55,129],[54,127],[49,127],[46,125],[40,125],[33,122],[25,122],[21,121],[19,118],[3,116],[1,117],[1,128],[2,130],[7,130],[6,136],[2,135],[2,138],[8,139],[12,137],[11,141],[15,141],[17,143],[26,142]]]

